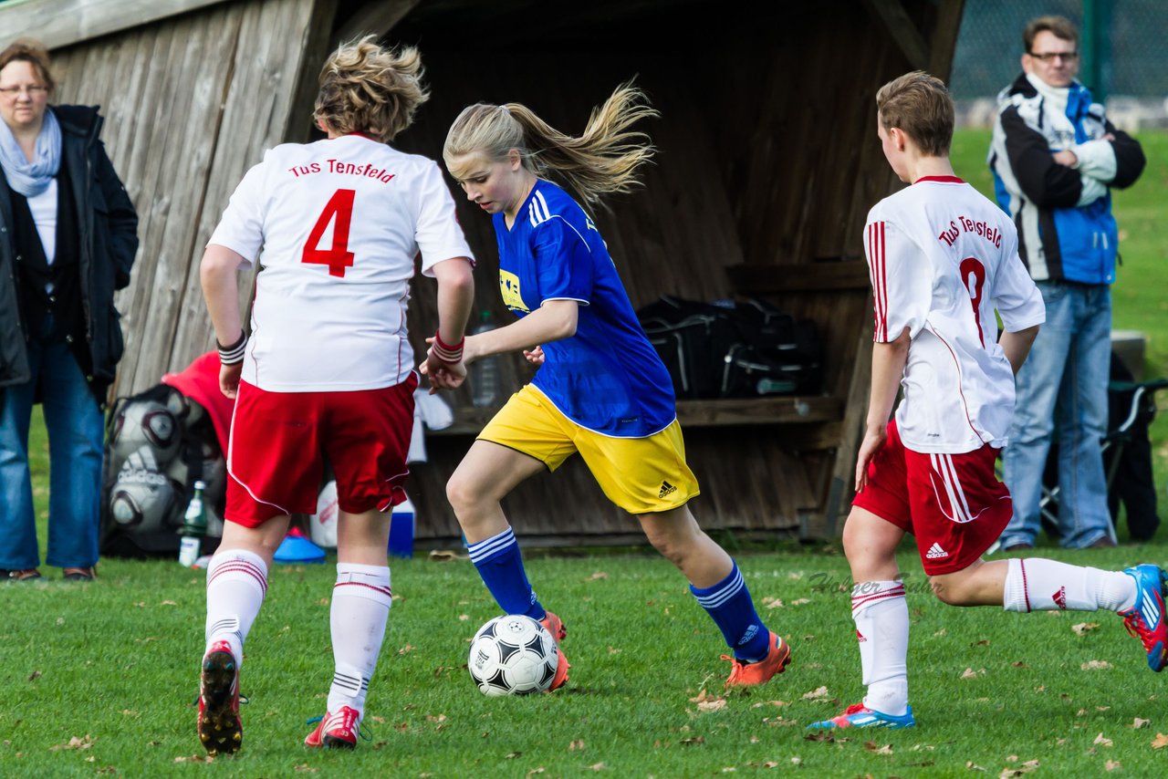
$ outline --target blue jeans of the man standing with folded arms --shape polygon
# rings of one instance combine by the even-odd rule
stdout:
[[[1017,375],[1017,403],[1003,477],[1014,516],[1003,547],[1033,544],[1041,527],[1042,474],[1056,431],[1058,529],[1063,547],[1112,537],[1100,444],[1107,432],[1111,290],[1106,285],[1038,281],[1047,324]]]

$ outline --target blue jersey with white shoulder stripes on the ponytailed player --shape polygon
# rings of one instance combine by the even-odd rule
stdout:
[[[673,382],[645,336],[609,249],[568,193],[536,181],[507,229],[494,215],[499,286],[517,317],[545,300],[578,300],[576,335],[544,343],[531,385],[578,425],[652,436],[676,418]]]

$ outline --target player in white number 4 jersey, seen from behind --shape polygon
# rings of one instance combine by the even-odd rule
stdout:
[[[471,251],[437,164],[388,145],[427,97],[420,77],[412,48],[391,51],[370,37],[338,49],[314,114],[328,139],[269,151],[231,195],[203,255],[220,383],[238,395],[227,523],[207,570],[197,729],[211,754],[239,749],[243,642],[288,515],[315,510],[326,459],[340,508],[335,670],[327,711],[305,743],[353,747],[360,735],[392,603],[387,512],[404,498],[413,426],[405,314],[415,257],[420,251],[422,273],[438,280],[432,371],[465,375],[474,294]],[[246,336],[237,271],[257,255]]]

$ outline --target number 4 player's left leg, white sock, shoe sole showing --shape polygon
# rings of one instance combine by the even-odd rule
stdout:
[[[207,566],[207,647],[199,684],[199,739],[209,754],[239,749],[239,668],[243,642],[267,591],[267,569],[287,533],[287,515],[259,527],[223,524],[223,540]]]

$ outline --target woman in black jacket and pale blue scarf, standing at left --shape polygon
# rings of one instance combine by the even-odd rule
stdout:
[[[49,107],[40,44],[0,53],[0,577],[36,579],[28,470],[33,404],[49,433],[46,564],[93,578],[102,409],[121,357],[113,292],[130,281],[138,216],[96,107]]]

